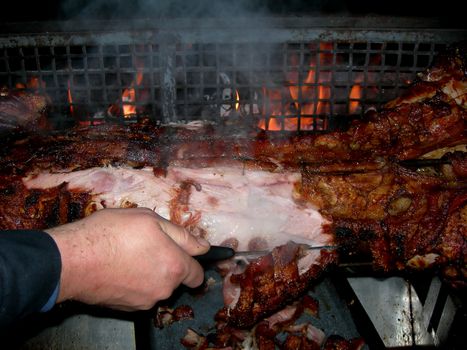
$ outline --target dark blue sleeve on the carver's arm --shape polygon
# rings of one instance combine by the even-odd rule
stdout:
[[[61,268],[60,252],[47,233],[0,231],[0,329],[50,306]]]

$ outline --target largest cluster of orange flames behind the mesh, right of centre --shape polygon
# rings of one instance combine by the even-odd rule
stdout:
[[[330,66],[333,62],[331,53],[332,43],[320,43],[320,52],[317,59],[309,63],[309,70],[303,82],[300,82],[299,72],[292,71],[287,74],[288,91],[281,89],[263,88],[263,115],[269,116],[260,119],[258,127],[263,130],[326,130],[326,116],[331,113],[329,100],[331,99],[332,76],[330,72],[321,71],[317,76],[317,66]],[[290,57],[292,66],[299,66],[299,57]],[[283,94],[290,96],[290,105],[282,101]],[[358,112],[362,87],[359,82],[352,86],[349,93],[349,113]],[[285,100],[288,100],[287,98]]]

